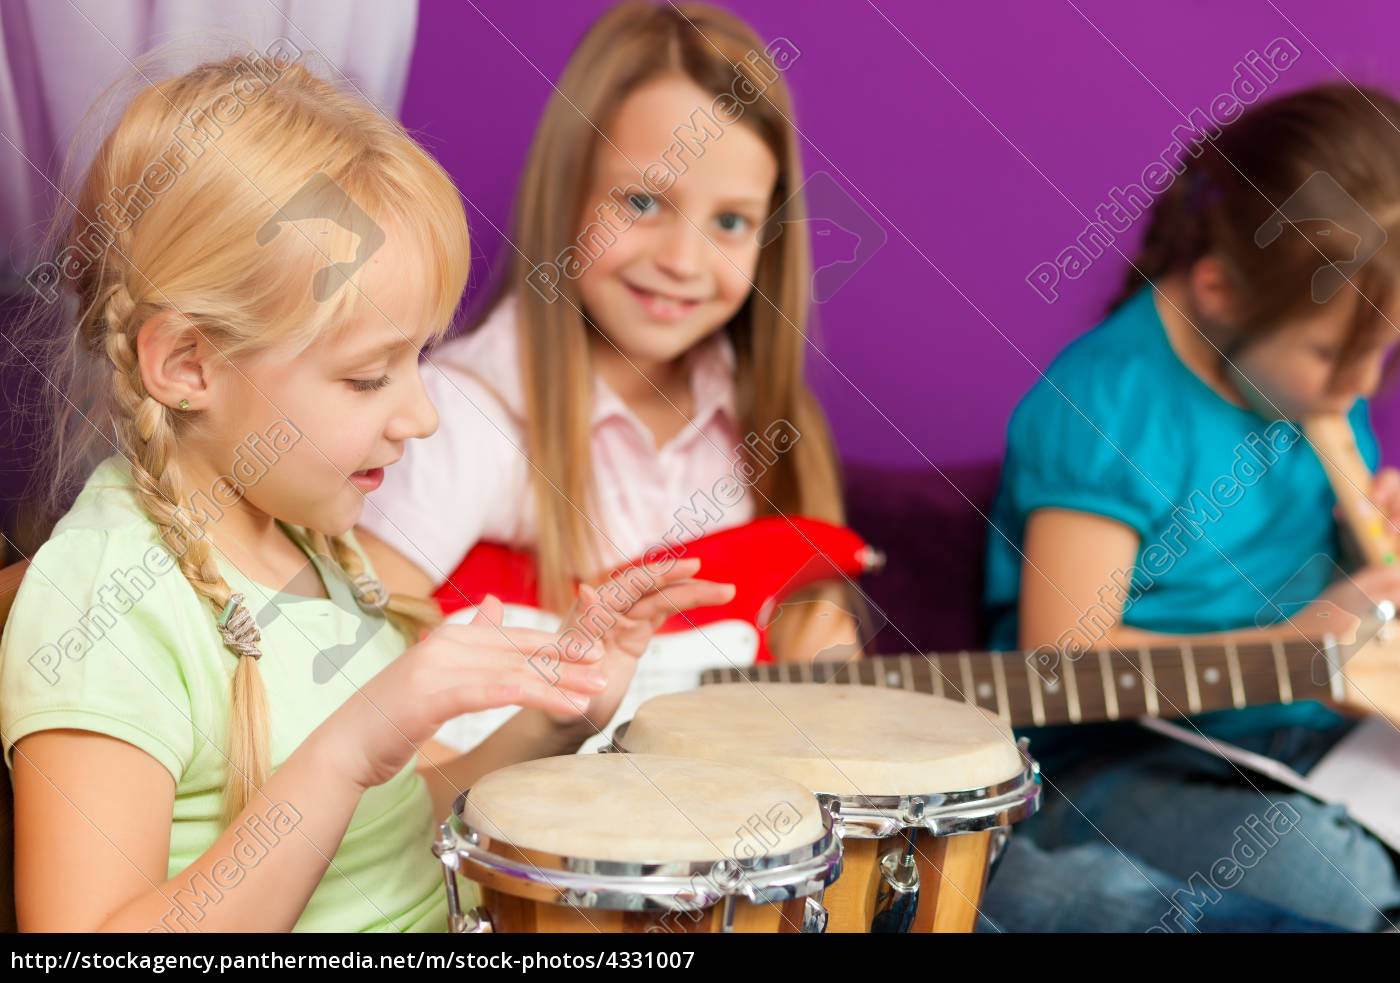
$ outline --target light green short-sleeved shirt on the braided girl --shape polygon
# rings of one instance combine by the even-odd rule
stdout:
[[[259,623],[273,767],[349,699],[353,686],[405,648],[386,619],[358,608],[339,566],[312,555],[301,528],[283,529],[311,557],[329,601],[255,584],[218,557],[220,573],[246,597]],[[181,574],[141,508],[129,465],[108,458],[35,553],[0,640],[6,765],[14,767],[17,741],[53,728],[106,734],[151,755],[175,779],[167,872],[174,877],[223,832],[223,749],[235,668],[210,605]],[[442,868],[430,850],[435,819],[416,765],[414,758],[364,794],[297,931],[447,928]],[[300,835],[294,812],[266,812],[266,822],[249,823],[239,836],[221,879],[211,882],[216,891],[238,891],[241,874],[230,864],[246,870],[263,856],[276,863],[274,854],[259,850],[259,840]],[[162,921],[188,931],[202,917],[192,899]]]

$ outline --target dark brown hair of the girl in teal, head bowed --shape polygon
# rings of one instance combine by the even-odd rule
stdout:
[[[1389,328],[1382,311],[1400,273],[1400,102],[1373,88],[1316,85],[1249,109],[1189,153],[1152,207],[1113,308],[1210,255],[1229,279],[1235,323],[1198,326],[1225,358],[1313,307],[1313,277],[1333,276],[1331,265],[1333,286],[1361,294],[1338,368]],[[1327,223],[1326,234],[1308,234],[1312,218]],[[1337,227],[1347,235],[1330,234]],[[1354,258],[1359,270],[1348,266]]]

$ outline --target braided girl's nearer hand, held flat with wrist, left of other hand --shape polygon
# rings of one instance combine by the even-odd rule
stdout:
[[[349,780],[371,788],[403,770],[419,745],[463,713],[504,706],[587,711],[589,697],[608,685],[596,667],[601,653],[561,662],[546,679],[528,658],[556,637],[503,627],[501,615],[501,602],[489,597],[470,625],[440,625],[360,688],[308,741],[319,741]]]

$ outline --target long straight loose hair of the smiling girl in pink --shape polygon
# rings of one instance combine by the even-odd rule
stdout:
[[[753,62],[764,66],[763,73]],[[750,127],[778,161],[771,221],[801,223],[806,207],[797,134],[788,120],[792,99],[764,43],[739,17],[708,4],[620,3],[584,35],[545,108],[521,176],[511,221],[515,252],[486,314],[505,295],[517,297],[524,374],[531,486],[539,518],[540,599],[566,608],[573,583],[599,573],[592,514],[589,403],[592,370],[588,328],[577,284],[559,284],[550,302],[529,286],[531,272],[552,263],[574,241],[599,141],[598,126],[629,92],[662,74],[682,74],[718,97],[742,76],[762,95],[743,111]],[[741,433],[763,433],[787,420],[801,434],[777,463],[739,452],[760,477],[757,511],[799,513],[843,521],[840,479],[826,417],[802,378],[812,256],[802,234],[784,234],[759,253],[753,293],[722,330],[736,354],[735,391]],[[574,503],[580,503],[577,507]],[[585,504],[587,503],[587,504]],[[678,503],[678,506],[682,503]]]

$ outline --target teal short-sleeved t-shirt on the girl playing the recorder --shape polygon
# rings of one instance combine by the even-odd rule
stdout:
[[[1365,400],[1350,419],[1375,469]],[[1301,431],[1235,406],[1187,368],[1144,287],[1072,342],[1012,413],[987,541],[991,646],[1016,648],[1022,538],[1037,508],[1131,527],[1141,542],[1119,590],[1124,625],[1194,634],[1273,625],[1322,594],[1340,571],[1334,504]],[[1316,702],[1193,718],[1222,739],[1343,720]]]

